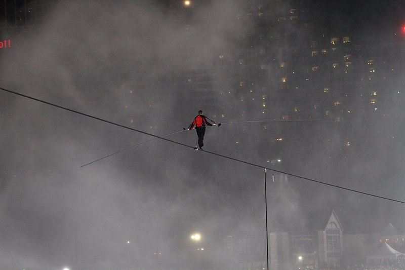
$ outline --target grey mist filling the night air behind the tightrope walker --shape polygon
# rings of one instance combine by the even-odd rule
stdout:
[[[207,127],[206,151],[405,201],[405,78],[398,60],[405,38],[393,37],[405,35],[401,1],[384,7],[376,1],[37,2],[46,4],[35,22],[18,26],[5,18],[0,28],[0,40],[12,42],[0,48],[0,88],[154,135],[175,133],[165,138],[192,147],[196,133],[183,128],[203,110],[224,123]],[[275,17],[298,6],[304,10],[306,3],[313,9],[300,16],[314,23],[307,32],[298,24],[266,30],[266,50],[272,49],[260,55],[260,41],[252,41],[263,26],[246,15],[256,2]],[[327,23],[317,25],[320,20]],[[368,56],[395,72],[381,75],[379,89],[367,89],[379,93],[378,110],[361,109],[362,80],[348,80],[333,97],[339,103],[331,102],[331,114],[311,117],[304,107],[314,107],[313,100],[322,107],[323,97],[312,90],[297,95],[298,86],[279,87],[286,77],[274,66],[300,61],[286,48],[305,43],[308,35],[321,36],[318,31],[328,41],[353,36],[352,44],[363,42]],[[251,64],[262,73],[242,69],[248,59],[258,59]],[[242,78],[245,72],[257,80]],[[311,89],[318,79],[309,76],[302,73]],[[332,78],[319,80],[327,84]],[[322,94],[329,92],[324,89]],[[257,105],[262,96],[266,103]],[[352,112],[336,116],[345,98]],[[248,122],[270,120],[279,122]],[[263,168],[161,139],[80,168],[153,137],[5,91],[0,126],[0,269],[230,269],[223,258],[225,237],[256,234],[266,249]],[[333,210],[343,234],[381,232],[389,222],[405,229],[401,202],[271,170],[266,179],[269,233],[312,229]],[[190,251],[196,233],[207,255]],[[343,258],[340,268],[350,263]]]

